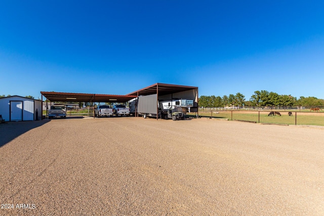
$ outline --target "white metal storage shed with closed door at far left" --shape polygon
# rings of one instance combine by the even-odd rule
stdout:
[[[0,98],[0,115],[5,121],[41,120],[42,101],[21,96]]]

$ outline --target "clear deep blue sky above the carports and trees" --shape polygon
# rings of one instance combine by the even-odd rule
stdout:
[[[156,82],[199,96],[324,99],[323,1],[2,1],[0,95],[124,95]]]

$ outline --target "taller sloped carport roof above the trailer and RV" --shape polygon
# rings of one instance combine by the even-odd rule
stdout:
[[[189,90],[198,89],[198,87],[190,87],[186,85],[175,85],[175,84],[165,84],[165,83],[155,83],[150,85],[149,87],[146,87],[144,89],[132,92],[130,94],[127,94],[128,96],[140,96],[140,95],[153,95],[157,93],[158,95],[169,95],[174,94],[178,92],[184,92]]]

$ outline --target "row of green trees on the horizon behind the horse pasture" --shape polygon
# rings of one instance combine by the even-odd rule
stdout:
[[[291,95],[279,95],[265,90],[255,91],[249,101],[241,93],[235,95],[220,96],[200,96],[198,100],[199,107],[321,107],[324,106],[324,100],[315,97],[300,97],[297,99]]]

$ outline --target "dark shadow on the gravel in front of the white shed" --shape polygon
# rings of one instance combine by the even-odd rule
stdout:
[[[42,126],[50,120],[40,121],[9,121],[6,124],[0,124],[0,148],[16,137],[26,133],[27,131]]]

